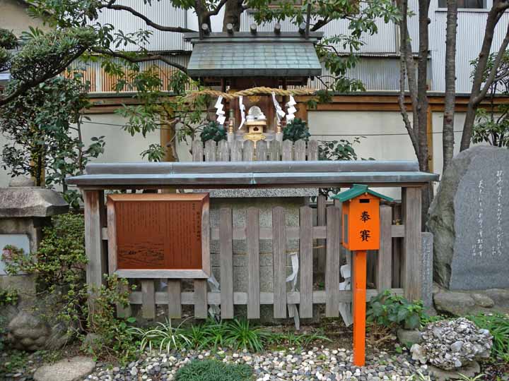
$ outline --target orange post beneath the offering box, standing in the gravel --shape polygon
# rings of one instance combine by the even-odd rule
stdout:
[[[353,252],[353,365],[365,363],[366,252]]]

